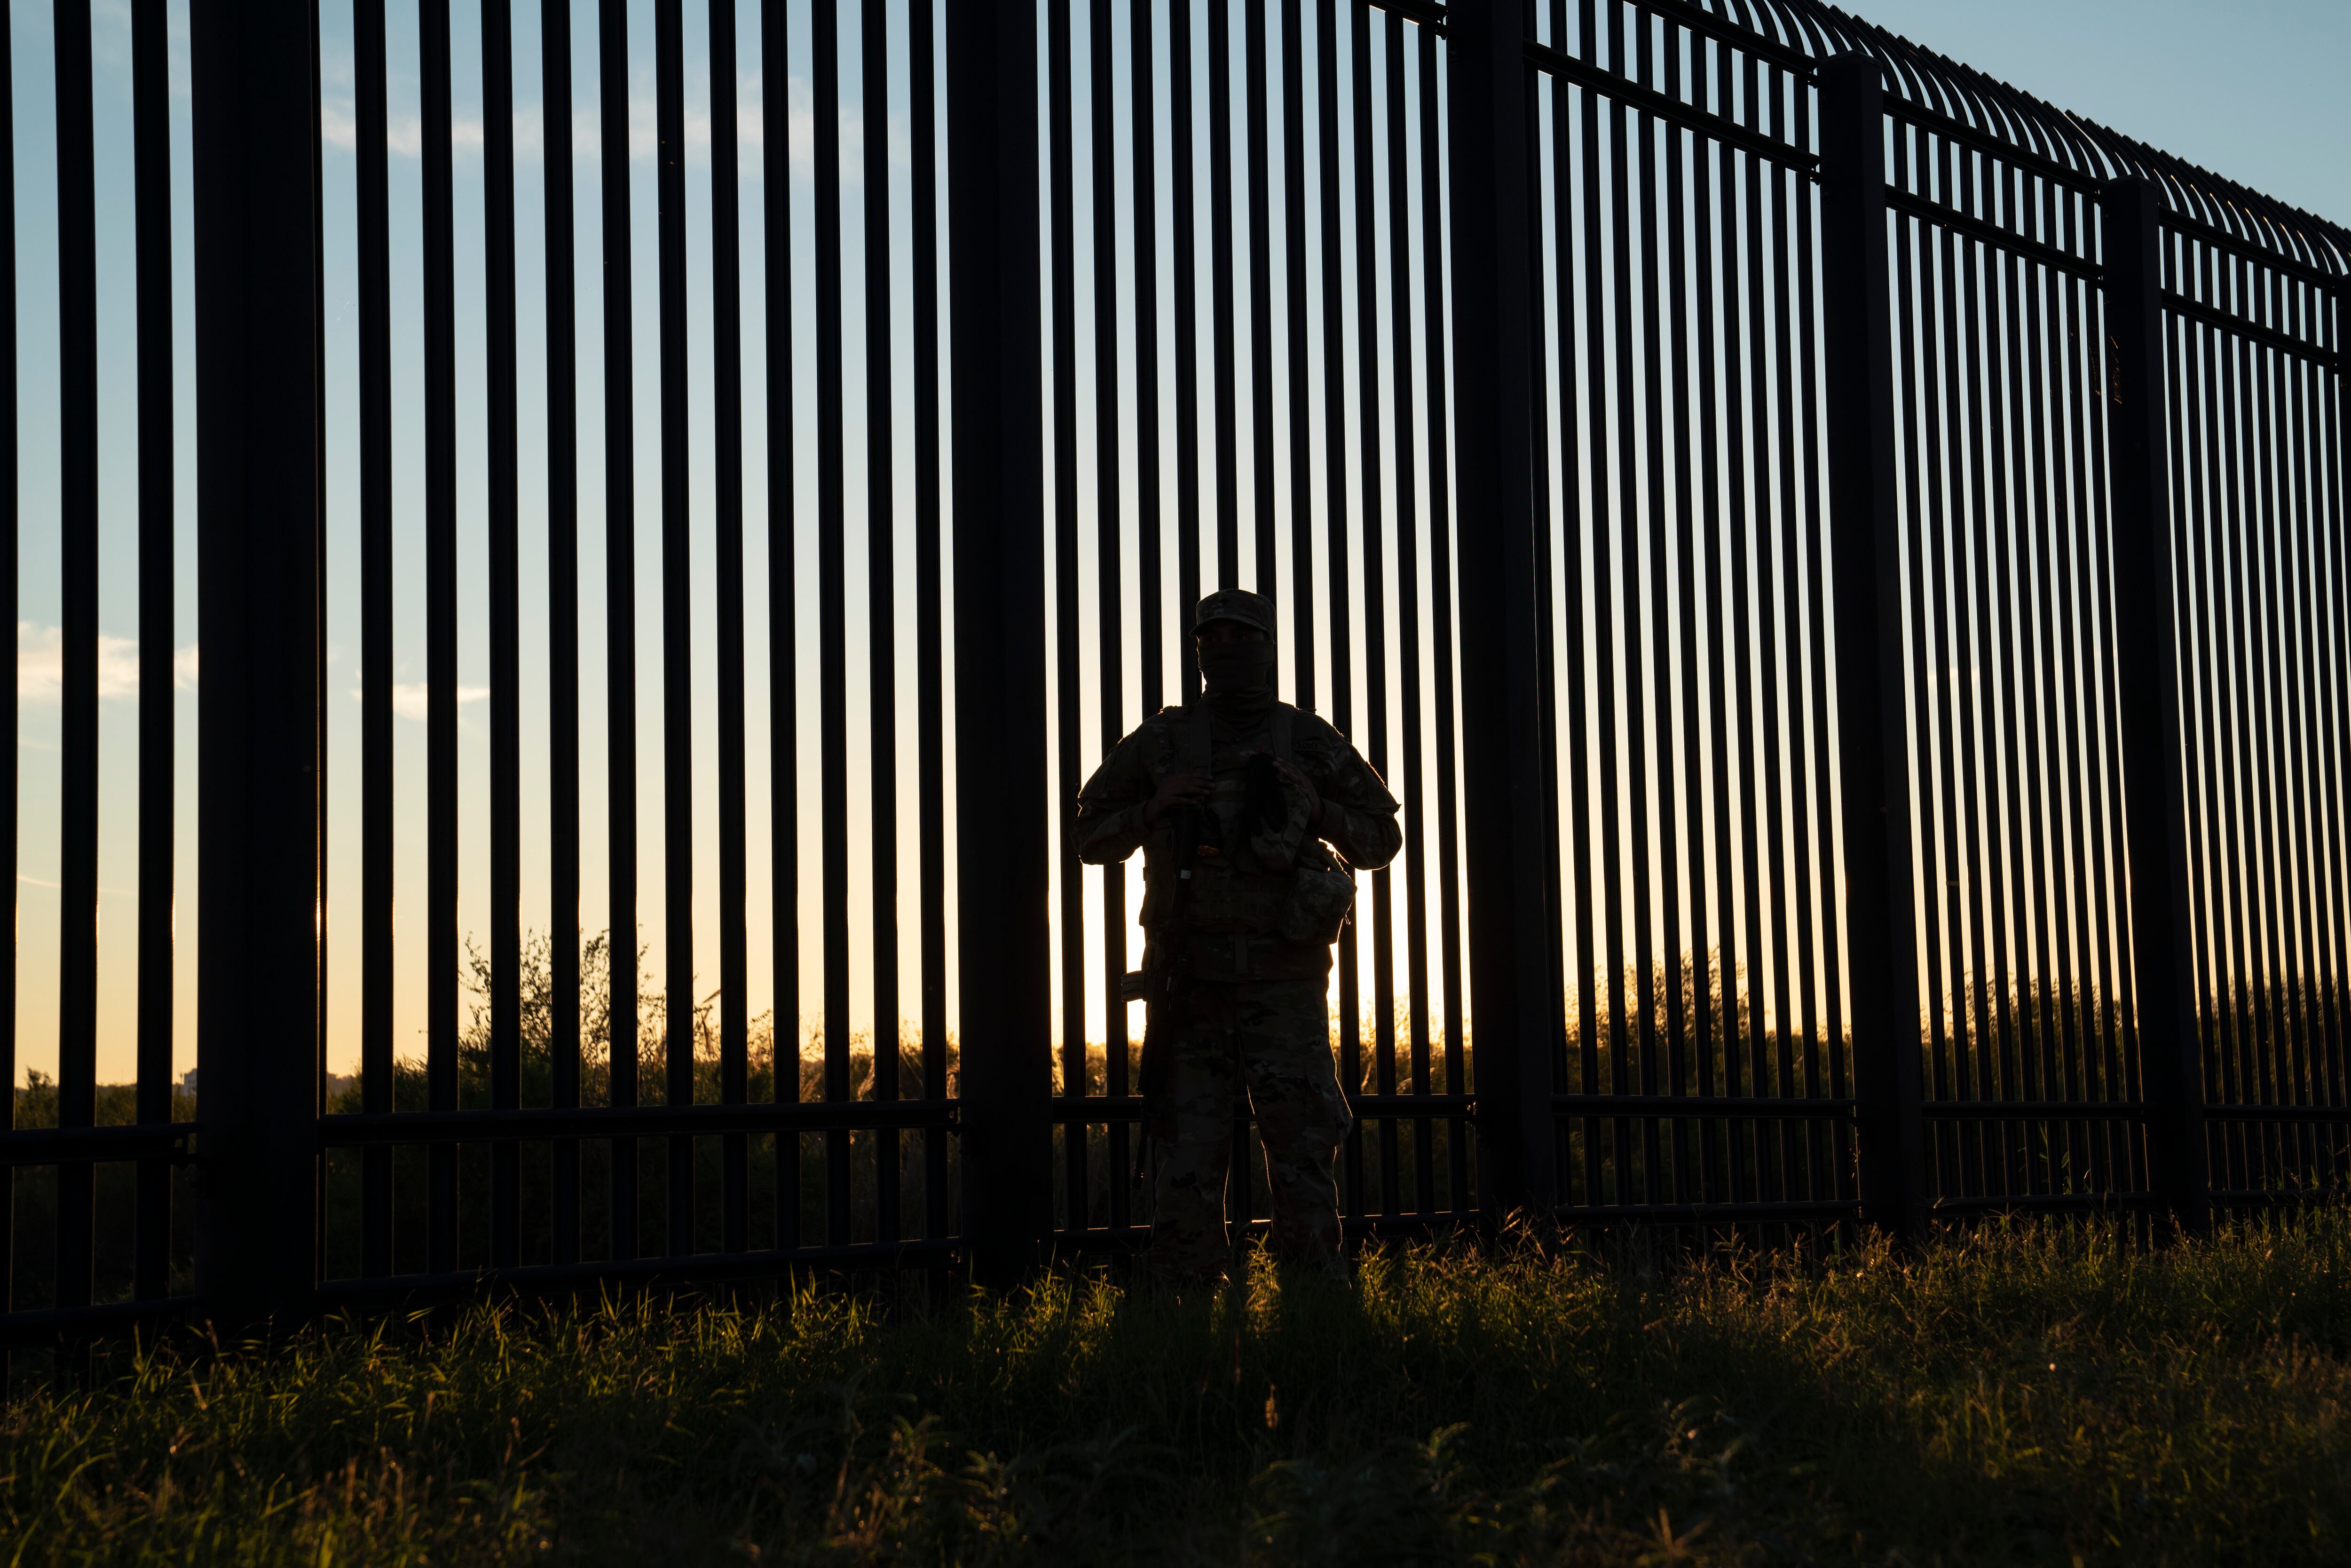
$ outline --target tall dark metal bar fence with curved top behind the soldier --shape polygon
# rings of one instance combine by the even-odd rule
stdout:
[[[183,122],[134,0],[101,268],[122,108],[54,24],[54,508],[0,190],[0,569],[54,520],[61,585],[9,1340],[1133,1246],[1140,889],[1063,818],[1204,585],[1404,799],[1349,1232],[2351,1173],[2346,230],[1808,0],[190,0]]]

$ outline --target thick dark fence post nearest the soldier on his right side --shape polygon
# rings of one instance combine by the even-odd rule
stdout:
[[[1453,494],[1460,562],[1462,849],[1469,872],[1479,1206],[1549,1218],[1561,997],[1542,820],[1533,494],[1528,63],[1519,0],[1446,14],[1453,183]],[[1535,835],[1540,842],[1540,835]]]

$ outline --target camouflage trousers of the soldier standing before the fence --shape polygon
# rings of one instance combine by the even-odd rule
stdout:
[[[1331,1161],[1352,1119],[1331,1063],[1324,980],[1194,985],[1168,1056],[1176,1143],[1159,1152],[1152,1267],[1213,1276],[1230,1258],[1225,1175],[1232,1159],[1234,1032],[1265,1145],[1274,1251],[1338,1262]]]

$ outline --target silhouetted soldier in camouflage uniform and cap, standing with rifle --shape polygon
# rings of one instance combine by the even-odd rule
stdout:
[[[1194,614],[1206,693],[1161,708],[1077,797],[1077,853],[1143,849],[1145,1138],[1159,1145],[1150,1269],[1218,1281],[1237,1079],[1265,1145],[1274,1253],[1338,1272],[1331,1161],[1354,1124],[1331,1065],[1331,943],[1354,867],[1387,865],[1396,799],[1347,738],[1274,698],[1274,607],[1227,588]]]

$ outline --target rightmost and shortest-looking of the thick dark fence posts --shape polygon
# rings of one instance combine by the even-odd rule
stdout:
[[[2099,193],[2114,386],[2106,463],[2114,508],[2114,670],[2130,811],[2130,990],[2146,1098],[2146,1175],[2182,1229],[2212,1220],[2203,1133],[2203,1039],[2189,926],[2186,785],[2179,776],[2179,646],[2172,628],[2172,505],[2165,473],[2163,268],[2154,181]]]

